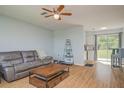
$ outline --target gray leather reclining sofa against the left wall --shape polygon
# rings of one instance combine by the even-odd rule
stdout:
[[[35,50],[0,53],[0,72],[6,81],[11,82],[29,75],[32,68],[53,62],[50,56],[40,59]]]

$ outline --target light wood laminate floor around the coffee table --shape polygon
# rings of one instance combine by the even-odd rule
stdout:
[[[33,88],[28,77],[11,83],[2,80],[3,88]],[[97,63],[93,67],[70,66],[70,75],[55,88],[124,88],[124,72]]]

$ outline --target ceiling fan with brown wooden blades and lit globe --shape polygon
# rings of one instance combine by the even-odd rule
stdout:
[[[72,13],[62,12],[63,9],[64,9],[64,5],[60,5],[58,8],[53,8],[52,10],[42,8],[42,10],[44,10],[45,12],[41,13],[41,15],[45,15],[45,18],[53,16],[54,19],[57,19],[57,20],[61,20],[62,15],[64,16],[72,15]]]

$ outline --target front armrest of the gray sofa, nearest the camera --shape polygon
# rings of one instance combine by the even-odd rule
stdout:
[[[11,82],[15,80],[15,70],[13,66],[4,67],[2,69],[3,69],[4,79],[6,81]]]

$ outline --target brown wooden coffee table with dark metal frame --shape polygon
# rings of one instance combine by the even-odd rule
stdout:
[[[49,64],[30,71],[29,83],[39,88],[56,86],[69,76],[69,66],[62,64]]]

